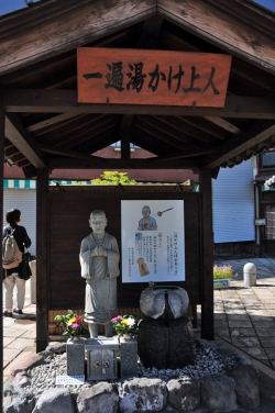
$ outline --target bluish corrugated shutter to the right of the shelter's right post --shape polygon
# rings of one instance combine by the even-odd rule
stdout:
[[[255,239],[254,183],[251,160],[221,168],[212,179],[215,243]]]

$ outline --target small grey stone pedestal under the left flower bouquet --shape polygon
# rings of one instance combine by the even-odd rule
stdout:
[[[67,375],[68,376],[85,376],[85,342],[79,338],[66,343],[67,351]]]

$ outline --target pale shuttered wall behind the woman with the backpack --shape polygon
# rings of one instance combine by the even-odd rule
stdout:
[[[35,189],[4,189],[3,190],[3,225],[6,225],[6,212],[19,209],[22,213],[22,225],[32,239],[29,248],[32,255],[36,255],[36,190]]]

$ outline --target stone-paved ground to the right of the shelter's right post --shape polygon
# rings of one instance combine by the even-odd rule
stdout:
[[[256,267],[256,286],[245,287],[243,266]],[[216,341],[222,339],[251,359],[274,370],[275,378],[275,258],[217,259],[238,276],[230,288],[215,290]]]

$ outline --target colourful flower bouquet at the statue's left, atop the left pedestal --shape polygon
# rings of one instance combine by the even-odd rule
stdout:
[[[68,310],[66,315],[56,315],[54,319],[57,327],[64,327],[63,335],[69,335],[70,338],[88,334],[88,328],[84,325],[85,315],[77,315],[72,310]]]

